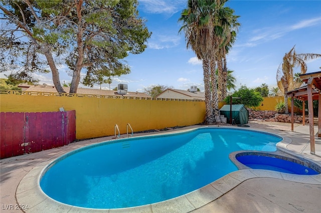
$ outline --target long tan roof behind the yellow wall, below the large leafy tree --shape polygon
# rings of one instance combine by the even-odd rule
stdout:
[[[63,89],[66,92],[70,91],[70,87],[63,86]],[[30,86],[26,91],[42,91],[42,92],[57,92],[55,86],[52,85],[36,85]],[[143,92],[132,92],[128,91],[127,94],[118,94],[115,90],[107,90],[107,89],[93,89],[93,88],[78,88],[77,94],[99,94],[99,95],[117,95],[117,96],[131,96],[131,97],[151,97],[148,94]]]

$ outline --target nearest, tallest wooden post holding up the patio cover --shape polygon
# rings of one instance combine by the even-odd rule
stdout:
[[[309,110],[309,129],[310,129],[310,153],[315,153],[314,122],[313,122],[313,99],[312,99],[313,77],[307,80],[307,106]]]

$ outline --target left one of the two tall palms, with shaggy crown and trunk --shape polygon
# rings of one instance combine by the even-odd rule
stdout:
[[[181,30],[185,32],[185,39],[187,48],[192,48],[196,53],[198,59],[203,63],[204,87],[205,87],[205,104],[206,104],[206,122],[213,123],[213,105],[211,104],[213,95],[211,93],[216,91],[215,87],[211,84],[210,66],[211,57],[215,55],[217,50],[213,47],[215,44],[214,33],[214,19],[216,3],[219,0],[188,0],[188,8],[184,9],[181,13],[179,21],[183,22]],[[212,82],[211,82],[212,81]],[[216,85],[216,84],[214,84]],[[217,99],[217,98],[216,98]]]

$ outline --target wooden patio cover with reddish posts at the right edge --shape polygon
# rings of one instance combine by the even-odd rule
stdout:
[[[288,97],[292,97],[291,99],[291,108],[293,109],[293,98],[297,98],[299,100],[307,100],[308,105],[308,116],[309,116],[309,130],[310,130],[310,152],[311,154],[315,153],[315,140],[314,140],[314,123],[313,123],[313,100],[318,100],[318,131],[317,136],[321,137],[321,71],[311,72],[300,74],[301,80],[306,84],[305,86],[299,87],[297,89],[288,91],[286,94]],[[303,125],[304,125],[304,102],[303,102]],[[293,131],[293,110],[291,110],[291,129]]]

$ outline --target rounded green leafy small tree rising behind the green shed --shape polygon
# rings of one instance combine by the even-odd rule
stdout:
[[[244,104],[246,107],[256,107],[259,106],[263,101],[262,95],[255,91],[254,89],[249,89],[245,85],[242,85],[237,91],[232,94],[232,97],[239,97],[233,99],[235,104]],[[227,96],[224,101],[226,103],[230,102],[230,96]]]

